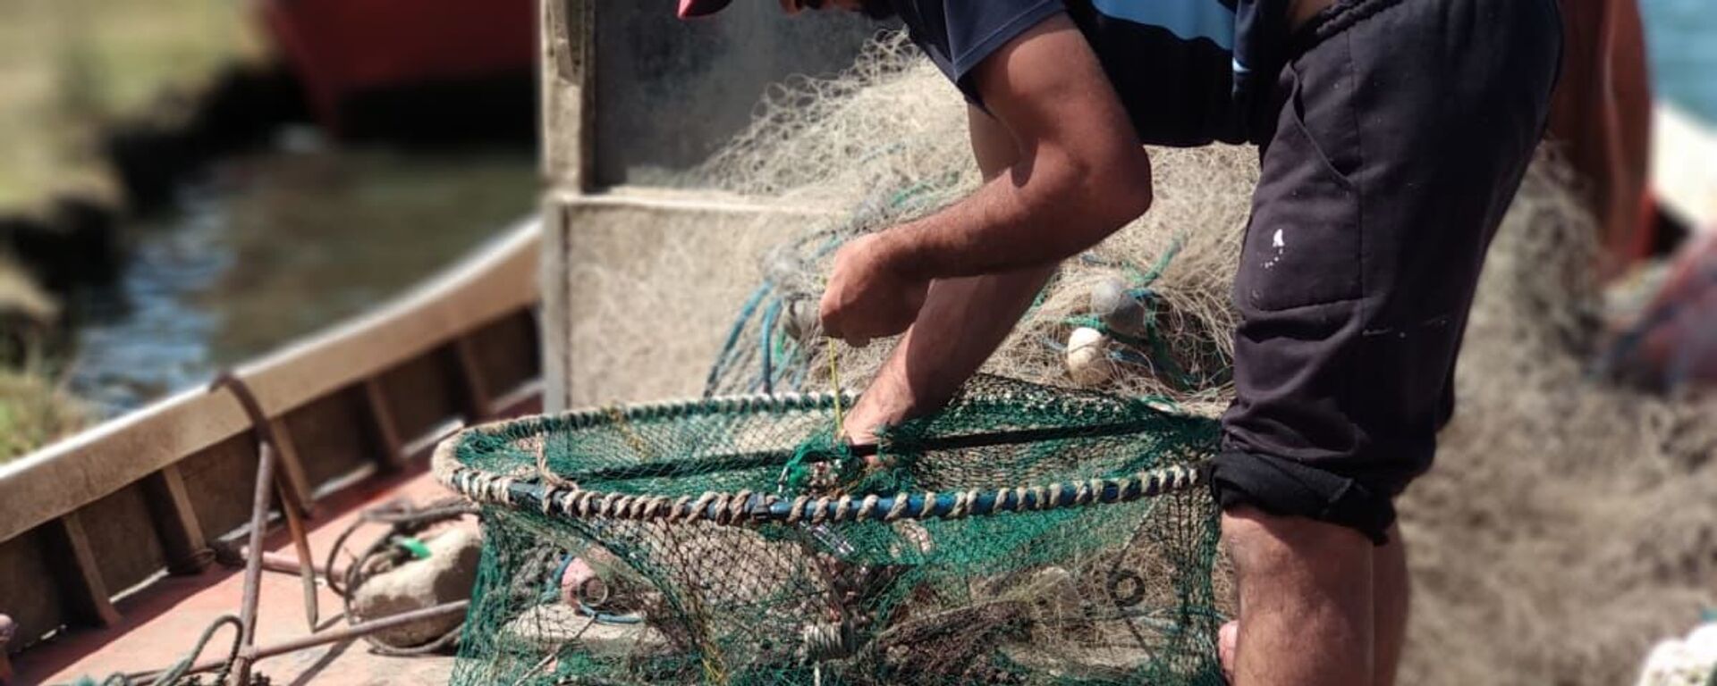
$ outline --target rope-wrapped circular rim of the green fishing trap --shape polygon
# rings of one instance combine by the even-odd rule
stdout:
[[[850,406],[857,396],[841,393]],[[1004,400],[1004,398],[1003,398]],[[701,496],[618,494],[546,484],[537,477],[515,477],[476,470],[458,463],[457,451],[465,437],[481,432],[548,429],[598,429],[628,420],[685,418],[733,412],[816,412],[833,408],[833,393],[788,393],[721,396],[694,401],[639,403],[610,408],[575,410],[553,417],[479,425],[455,434],[436,446],[433,468],[436,480],[474,502],[510,509],[537,511],[572,520],[635,521],[711,521],[719,525],[809,523],[826,521],[898,521],[958,520],[1003,513],[1047,511],[1095,504],[1119,504],[1145,497],[1190,492],[1207,484],[1204,466],[1164,466],[1123,478],[1089,478],[1070,484],[1018,485],[996,490],[900,492],[893,496],[797,496],[783,497],[752,490],[704,492]],[[1159,408],[1161,410],[1161,408]],[[1071,427],[1080,436],[1083,427]],[[1126,425],[1097,427],[1114,436]],[[1027,432],[1032,434],[1032,432]],[[1089,434],[1085,434],[1089,436]]]

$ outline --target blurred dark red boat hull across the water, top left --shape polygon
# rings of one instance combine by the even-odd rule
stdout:
[[[266,0],[261,12],[335,134],[355,93],[519,74],[536,60],[531,0]]]

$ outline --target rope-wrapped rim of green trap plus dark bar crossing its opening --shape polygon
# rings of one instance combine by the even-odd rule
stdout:
[[[960,492],[900,492],[889,496],[821,496],[783,497],[764,492],[704,492],[697,497],[666,494],[618,494],[599,489],[560,487],[556,484],[598,484],[625,478],[666,478],[707,473],[716,470],[754,470],[780,466],[793,458],[792,451],[730,453],[687,461],[649,461],[625,466],[591,470],[556,478],[519,477],[484,472],[458,463],[457,449],[472,432],[541,434],[549,430],[608,429],[622,422],[689,420],[709,415],[769,413],[769,412],[821,412],[834,403],[850,405],[853,394],[841,393],[790,393],[725,396],[683,403],[646,403],[616,408],[572,412],[558,417],[534,417],[512,424],[470,429],[445,441],[434,456],[436,478],[446,487],[479,504],[529,509],[546,516],[570,520],[652,520],[652,521],[711,521],[721,525],[743,523],[821,523],[821,521],[895,521],[895,520],[958,520],[1001,513],[1044,511],[1092,504],[1132,502],[1164,494],[1190,492],[1209,482],[1207,466],[1162,466],[1114,478],[1087,478],[1066,484],[1022,484],[994,490]],[[1119,420],[1089,425],[1041,427],[980,434],[941,436],[917,441],[912,449],[963,449],[1039,441],[1066,441],[1092,437],[1125,437],[1149,429],[1149,422]],[[877,454],[889,446],[850,446],[853,456]]]

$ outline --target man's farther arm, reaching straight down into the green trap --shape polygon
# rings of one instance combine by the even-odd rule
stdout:
[[[972,106],[967,122],[986,182],[1020,159],[1013,134],[992,117]],[[1054,264],[1046,264],[934,281],[917,321],[846,415],[848,441],[872,442],[877,427],[944,405],[1008,338],[1053,273]]]

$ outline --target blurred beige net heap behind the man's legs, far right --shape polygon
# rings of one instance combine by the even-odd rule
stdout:
[[[1604,292],[1576,185],[1550,156],[1530,172],[1480,280],[1454,422],[1399,502],[1401,683],[1633,683],[1717,607],[1717,401],[1593,374]]]

